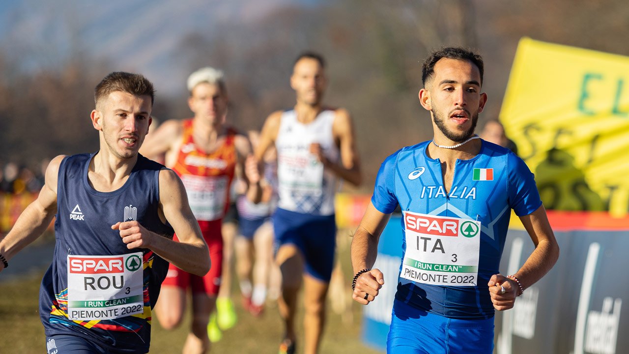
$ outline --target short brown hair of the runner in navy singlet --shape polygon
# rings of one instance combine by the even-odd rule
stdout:
[[[155,89],[153,89],[153,84],[146,77],[140,74],[116,71],[105,76],[96,85],[94,89],[94,104],[98,105],[98,101],[106,98],[114,91],[130,93],[133,96],[150,96],[151,106],[153,106],[153,101],[155,101]]]

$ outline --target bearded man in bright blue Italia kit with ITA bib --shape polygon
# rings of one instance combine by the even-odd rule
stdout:
[[[487,101],[482,73],[481,57],[464,49],[426,59],[419,98],[431,112],[434,139],[382,163],[353,237],[352,297],[369,304],[384,284],[371,269],[378,239],[399,204],[403,262],[387,353],[492,353],[494,309],[511,309],[559,256],[533,174],[513,152],[474,134]],[[535,250],[504,277],[498,266],[511,209]]]

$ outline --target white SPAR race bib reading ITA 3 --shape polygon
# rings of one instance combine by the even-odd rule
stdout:
[[[431,285],[477,285],[481,222],[404,212],[401,277]]]

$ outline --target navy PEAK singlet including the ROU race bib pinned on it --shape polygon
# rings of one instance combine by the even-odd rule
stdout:
[[[158,216],[161,164],[138,155],[118,190],[94,190],[87,171],[94,154],[59,166],[55,251],[40,288],[47,336],[70,334],[116,353],[147,353],[151,310],[168,263],[150,249],[127,249],[116,222],[137,220],[172,239]]]

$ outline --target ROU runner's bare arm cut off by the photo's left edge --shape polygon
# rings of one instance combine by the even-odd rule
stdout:
[[[45,183],[37,199],[19,215],[15,225],[9,233],[0,240],[0,254],[11,260],[13,256],[28,246],[46,231],[52,218],[57,213],[57,174],[59,164],[65,156],[60,155],[52,159],[46,169]],[[4,264],[0,262],[0,271]]]

